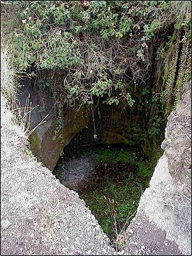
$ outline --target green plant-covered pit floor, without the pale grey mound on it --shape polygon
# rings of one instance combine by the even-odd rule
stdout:
[[[79,148],[74,152],[74,158],[93,153],[96,154],[93,171],[79,185],[77,192],[89,206],[103,231],[113,241],[134,217],[141,194],[148,187],[153,172],[141,158],[141,154],[139,156],[139,152],[126,149]],[[72,156],[68,155],[68,161],[70,157]],[[65,161],[62,161],[64,165]],[[59,169],[61,172],[58,166],[54,171],[58,179],[61,177]]]

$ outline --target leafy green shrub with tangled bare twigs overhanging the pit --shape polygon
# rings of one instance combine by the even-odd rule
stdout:
[[[57,102],[93,104],[101,97],[107,104],[123,101],[132,107],[133,89],[146,88],[152,71],[151,43],[157,50],[165,47],[172,25],[189,41],[190,3],[175,2],[4,1],[1,10],[13,65],[34,81],[52,77],[54,83],[45,84]],[[167,37],[158,43],[158,34]],[[169,56],[177,50],[172,47]],[[178,90],[179,85],[177,95]]]

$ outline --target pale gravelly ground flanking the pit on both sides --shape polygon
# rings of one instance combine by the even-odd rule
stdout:
[[[6,115],[6,108],[1,110],[1,116]],[[27,140],[18,137],[16,128],[9,120],[7,116],[4,118],[1,133],[3,159],[1,200],[4,205],[1,216],[1,254],[41,255],[44,252],[49,255],[115,254],[114,250],[103,242],[103,235],[99,241],[93,241],[94,238],[98,238],[98,234],[96,236],[95,233],[93,234],[96,229],[89,229],[90,224],[87,219],[82,219],[81,213],[84,211],[83,216],[90,220],[94,217],[87,212],[85,205],[82,206],[77,193],[74,194],[73,191],[66,189],[56,181],[48,169],[37,166],[37,163],[26,156],[23,141],[27,142]],[[12,133],[14,137],[11,137]],[[181,104],[169,116],[165,141],[162,143],[165,152],[157,163],[150,187],[141,196],[136,217],[121,236],[122,244],[125,245],[124,250],[117,254],[191,255],[190,142],[191,85],[189,84],[182,96]],[[10,151],[11,143],[14,148],[12,146]],[[184,151],[179,154],[180,158],[177,158],[180,149]],[[14,204],[11,203],[13,200],[15,200]],[[26,200],[29,201],[27,205]],[[70,206],[67,207],[68,204]],[[93,222],[101,232],[96,220]],[[74,227],[78,228],[74,229]],[[78,230],[83,234],[80,241]],[[87,232],[89,232],[88,237]],[[58,238],[63,240],[57,240]],[[67,239],[70,239],[70,243]]]

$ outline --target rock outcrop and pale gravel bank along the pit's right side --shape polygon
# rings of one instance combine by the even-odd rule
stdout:
[[[131,255],[191,255],[190,85],[169,116],[162,147],[165,152],[127,229],[125,253]]]

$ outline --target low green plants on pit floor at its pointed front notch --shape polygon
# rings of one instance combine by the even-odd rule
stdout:
[[[130,223],[145,189],[137,173],[130,172],[126,176],[123,185],[104,177],[102,185],[94,191],[84,191],[81,196],[110,238],[115,236],[115,229],[121,231],[127,219],[127,225]]]

